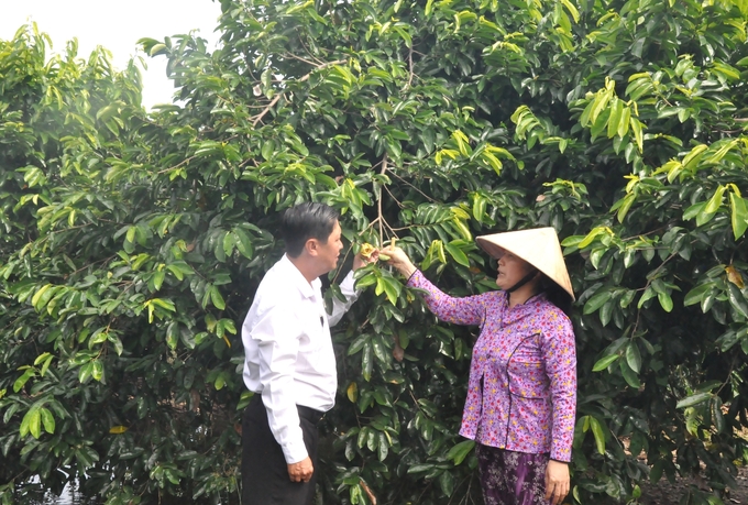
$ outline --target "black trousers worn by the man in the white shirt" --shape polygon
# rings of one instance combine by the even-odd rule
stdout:
[[[322,413],[298,407],[304,444],[315,465],[309,482],[292,482],[283,450],[267,424],[261,395],[244,410],[242,421],[242,505],[312,505],[317,482],[317,424]]]

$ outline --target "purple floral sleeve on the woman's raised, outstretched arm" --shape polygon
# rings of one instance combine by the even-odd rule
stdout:
[[[485,319],[486,308],[482,295],[464,298],[449,296],[431,284],[419,270],[410,276],[407,286],[424,289],[426,305],[442,321],[455,325],[481,325]]]

